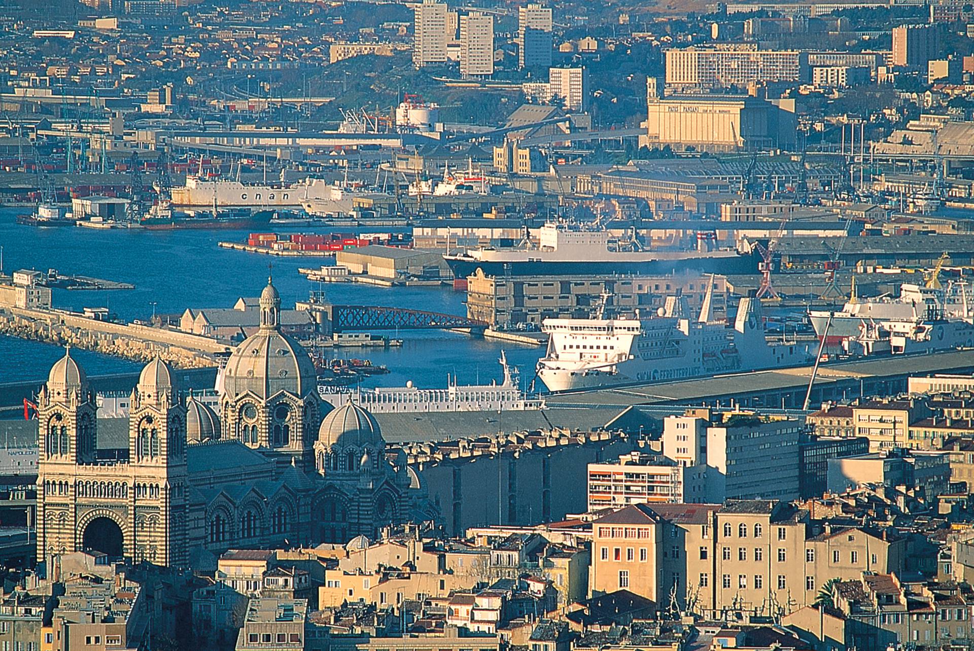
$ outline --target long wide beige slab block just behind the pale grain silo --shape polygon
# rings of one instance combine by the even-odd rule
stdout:
[[[805,82],[808,53],[754,46],[666,51],[666,86],[676,91],[746,89],[769,82]]]

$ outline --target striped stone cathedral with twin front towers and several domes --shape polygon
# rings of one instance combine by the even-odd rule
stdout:
[[[318,397],[311,358],[281,332],[270,279],[259,311],[223,370],[217,409],[150,362],[131,393],[128,450],[109,458],[84,369],[70,350],[52,367],[37,408],[39,559],[90,550],[189,566],[229,548],[346,543],[435,519],[372,414]]]

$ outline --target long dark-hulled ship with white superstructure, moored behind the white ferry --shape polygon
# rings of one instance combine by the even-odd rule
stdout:
[[[537,247],[481,247],[443,258],[455,278],[478,268],[488,276],[560,274],[673,274],[699,271],[718,274],[755,272],[754,260],[736,250],[642,250],[614,240],[604,229],[562,223],[544,224]]]

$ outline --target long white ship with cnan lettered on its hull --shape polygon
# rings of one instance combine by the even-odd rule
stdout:
[[[329,184],[320,178],[305,178],[286,183],[243,183],[230,178],[205,179],[187,176],[182,187],[170,190],[175,208],[287,208],[299,209],[313,200],[338,202],[345,205],[345,188]],[[351,206],[351,200],[349,205]]]

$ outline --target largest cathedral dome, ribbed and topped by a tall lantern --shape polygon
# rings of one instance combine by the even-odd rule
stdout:
[[[318,391],[318,373],[308,352],[279,327],[281,296],[268,279],[260,294],[260,329],[244,340],[227,360],[223,396],[251,392],[261,400],[286,391],[304,397]]]

